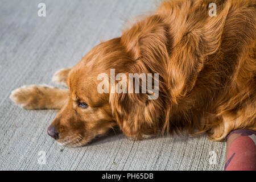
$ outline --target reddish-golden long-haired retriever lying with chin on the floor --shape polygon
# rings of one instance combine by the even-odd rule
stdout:
[[[216,16],[209,13],[210,3]],[[65,146],[82,146],[114,126],[134,140],[183,131],[223,140],[235,129],[256,130],[255,3],[163,1],[120,37],[55,73],[53,81],[67,84],[67,90],[28,85],[10,98],[26,109],[60,109],[47,133]],[[111,77],[110,69],[127,77],[158,73],[158,97],[148,99],[147,89],[111,92],[119,82],[131,85],[124,78],[114,86],[113,79],[105,79],[110,92],[98,92],[104,80],[98,76]]]

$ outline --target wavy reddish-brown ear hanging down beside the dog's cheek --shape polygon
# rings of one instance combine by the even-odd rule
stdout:
[[[163,100],[163,85],[158,73],[147,74],[148,70],[143,68],[146,66],[140,60],[131,65],[130,72],[124,74],[110,92],[113,116],[123,133],[133,139],[162,131],[163,116],[166,116],[164,107],[170,105],[165,103],[168,100]]]

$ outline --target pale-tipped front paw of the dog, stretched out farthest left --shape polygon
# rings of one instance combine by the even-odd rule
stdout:
[[[44,85],[25,85],[13,90],[10,99],[17,105],[25,109],[45,109],[48,90],[53,89],[51,86]]]

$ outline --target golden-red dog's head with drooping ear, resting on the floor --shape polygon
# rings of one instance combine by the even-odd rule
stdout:
[[[51,136],[65,146],[82,146],[115,125],[129,137],[138,139],[142,133],[154,133],[153,118],[159,118],[160,105],[156,103],[158,100],[148,99],[150,93],[141,93],[142,82],[140,93],[113,92],[118,82],[128,80],[128,73],[150,73],[146,67],[139,68],[141,66],[141,61],[135,64],[129,57],[121,38],[94,47],[69,72],[68,101],[49,126],[48,133],[53,133]],[[110,69],[115,70],[114,86]],[[115,77],[118,73],[127,75],[127,80]],[[152,77],[154,88],[154,74]]]

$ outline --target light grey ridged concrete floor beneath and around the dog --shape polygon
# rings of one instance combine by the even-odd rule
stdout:
[[[46,17],[38,16],[39,2],[46,3]],[[101,39],[120,36],[127,20],[154,7],[154,0],[1,1],[1,170],[224,168],[225,143],[211,142],[205,135],[134,142],[112,132],[88,146],[61,148],[46,133],[55,110],[24,110],[9,100],[19,86],[53,85],[55,71],[75,65]],[[43,154],[46,164],[40,163]]]

